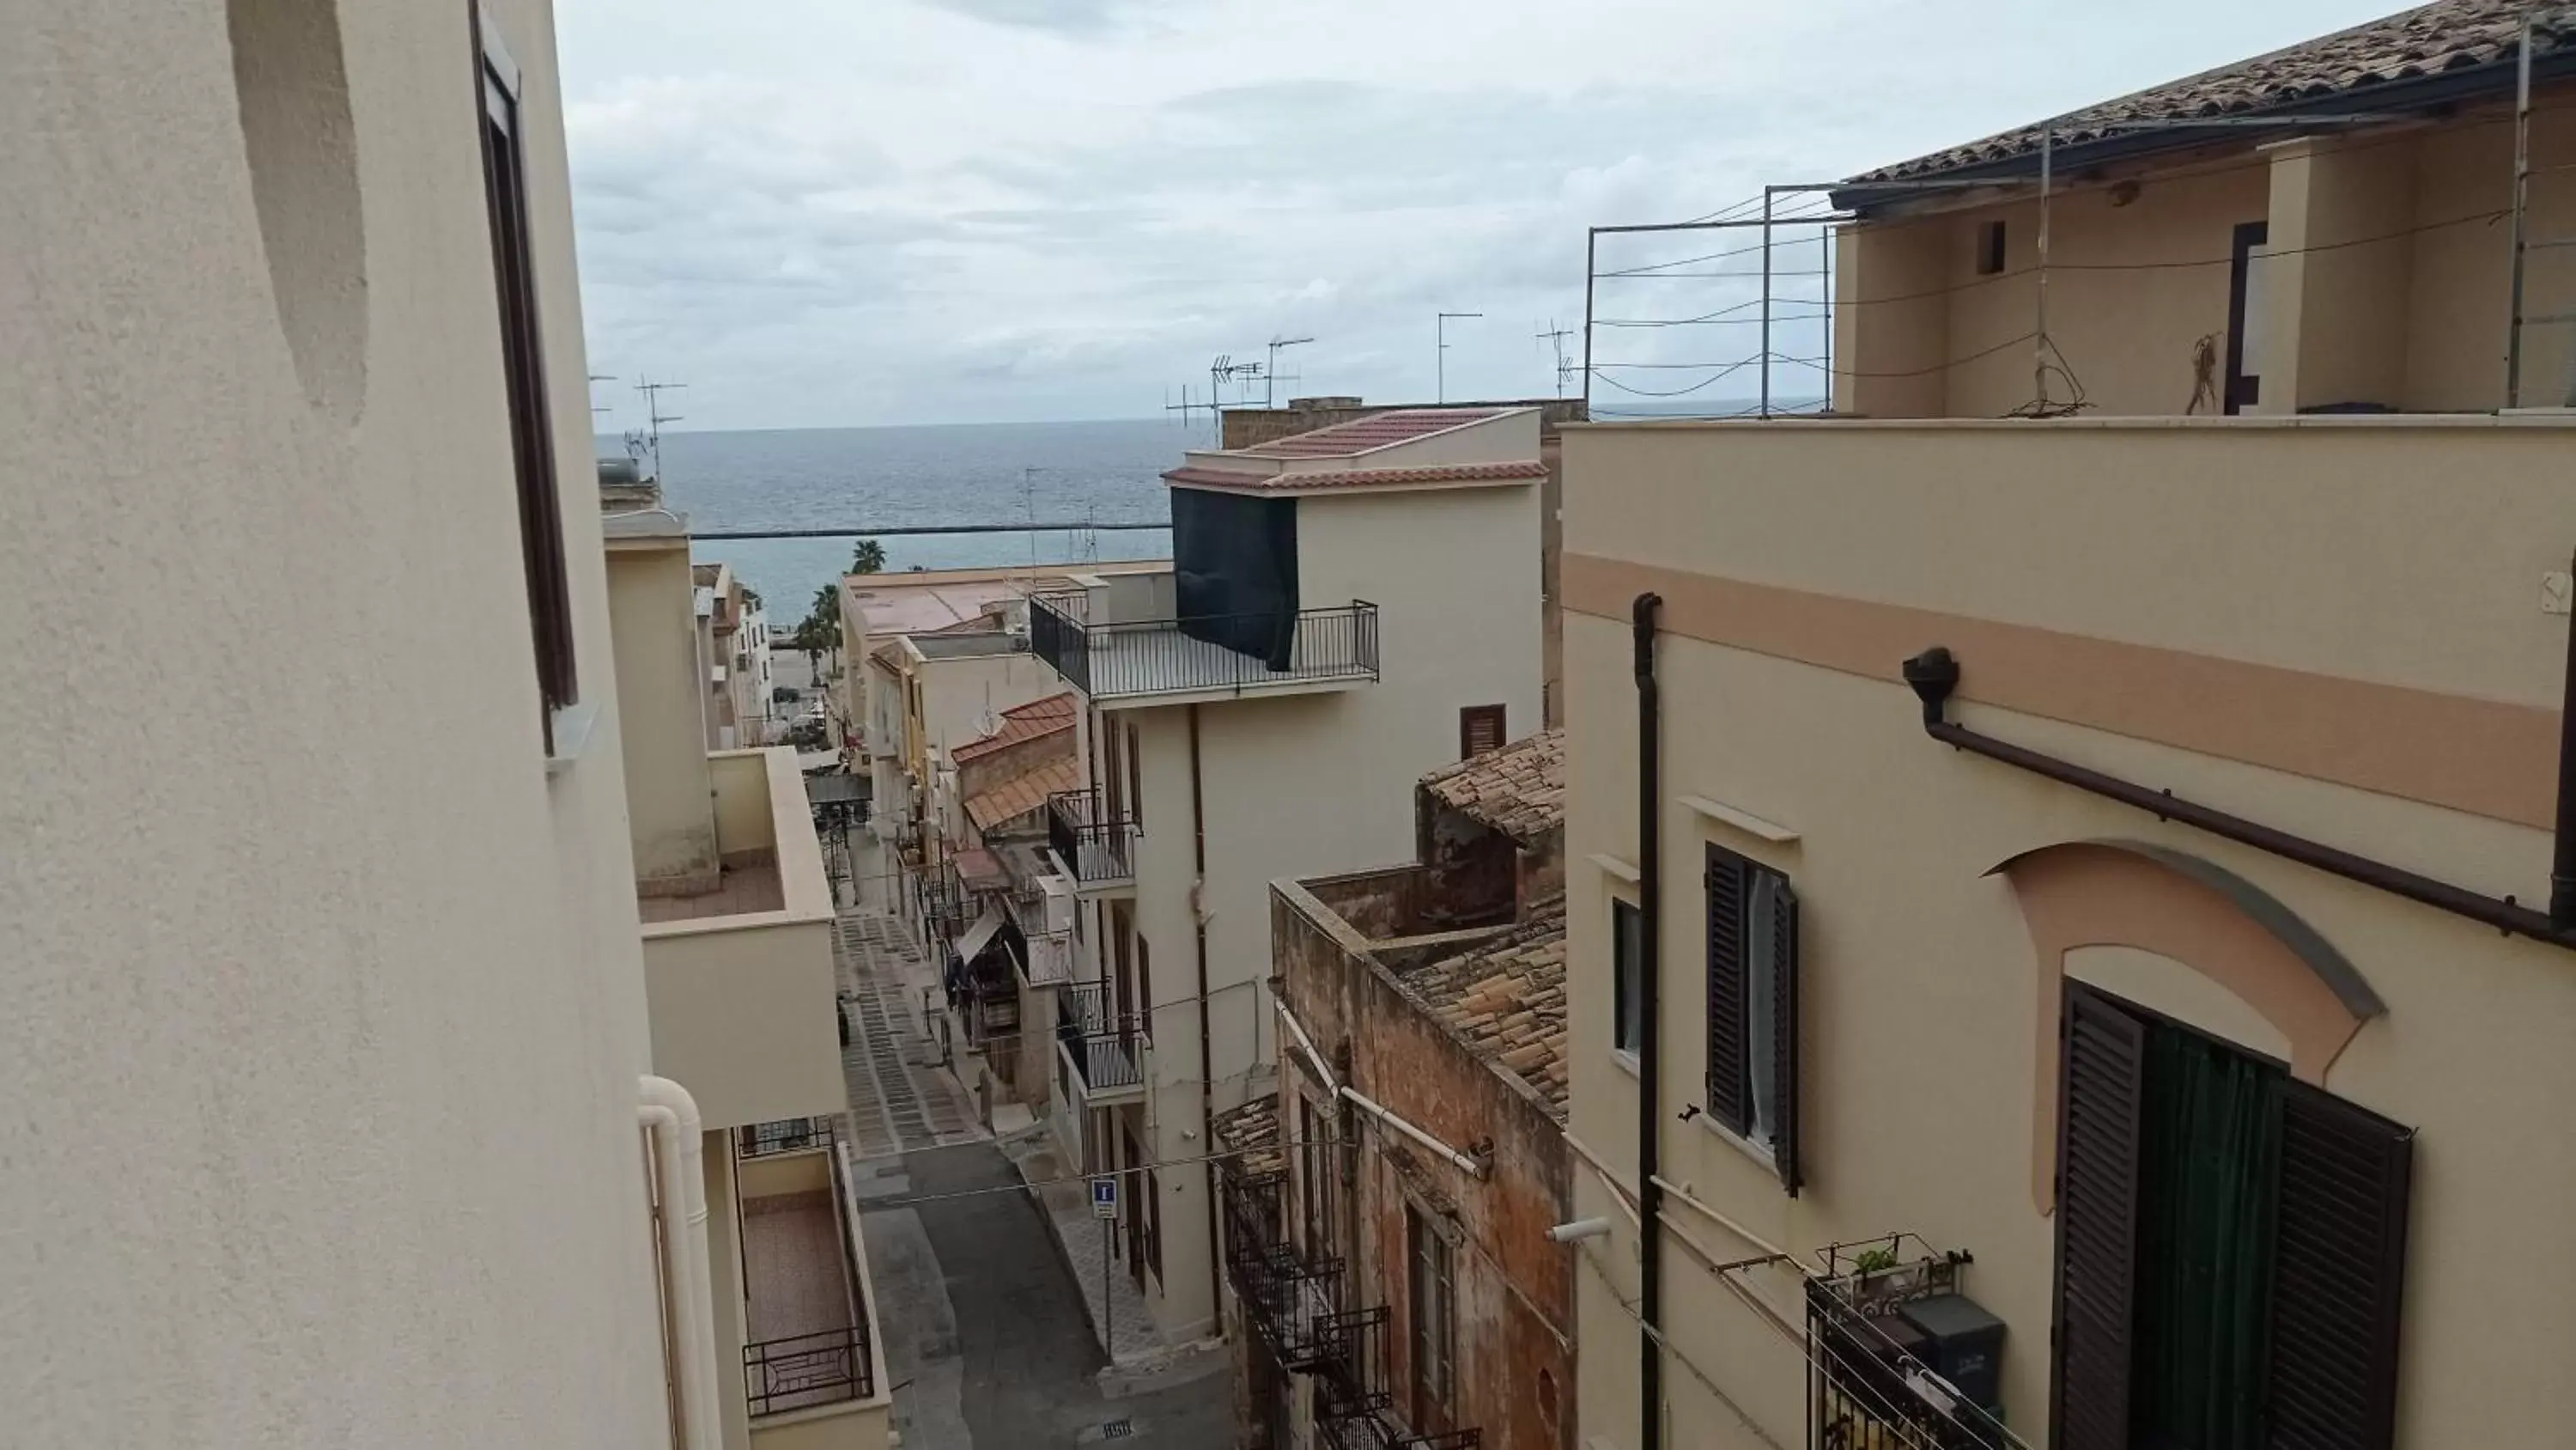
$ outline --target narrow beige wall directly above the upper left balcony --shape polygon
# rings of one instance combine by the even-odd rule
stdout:
[[[636,881],[672,886],[716,868],[714,780],[706,765],[698,621],[690,610],[688,541],[616,543],[608,551],[608,618],[618,659],[618,719],[626,721],[626,824]]]

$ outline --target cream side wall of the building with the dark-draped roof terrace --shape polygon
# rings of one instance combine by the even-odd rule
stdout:
[[[1298,572],[1306,608],[1378,605],[1381,680],[1198,706],[1213,1071],[1200,1071],[1188,1002],[1198,992],[1188,706],[1110,713],[1133,719],[1144,744],[1136,925],[1164,1004],[1154,1017],[1159,1159],[1206,1151],[1200,1079],[1216,1082],[1216,1110],[1226,1110],[1273,1056],[1278,1028],[1257,986],[1270,976],[1270,883],[1406,860],[1414,780],[1458,757],[1463,706],[1502,703],[1512,734],[1540,729],[1535,484],[1303,497]],[[1164,1172],[1162,1187],[1167,1283],[1149,1303],[1167,1329],[1208,1324],[1206,1174]]]

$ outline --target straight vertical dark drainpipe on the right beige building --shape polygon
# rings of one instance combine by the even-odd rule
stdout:
[[[1656,610],[1664,598],[1646,592],[1633,608],[1636,644],[1636,914],[1638,914],[1638,1040],[1636,1040],[1636,1262],[1638,1262],[1638,1447],[1664,1442],[1664,1190],[1662,1102],[1656,1100],[1664,974],[1664,695],[1654,677]]]

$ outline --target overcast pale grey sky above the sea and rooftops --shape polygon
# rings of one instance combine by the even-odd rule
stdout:
[[[1448,397],[1538,397],[1533,335],[1582,325],[1587,224],[1700,216],[2393,8],[556,0],[590,363],[685,379],[685,428],[1149,417],[1280,335],[1316,337],[1285,355],[1296,391],[1430,399],[1435,312],[1481,312],[1450,325]],[[1602,265],[1723,245],[1700,237]],[[1741,296],[1602,283],[1600,314]],[[1618,355],[1741,355],[1739,332],[1631,330]],[[600,402],[639,420],[626,386]]]

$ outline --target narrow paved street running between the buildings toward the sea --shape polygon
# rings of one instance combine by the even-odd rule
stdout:
[[[1231,1357],[1190,1350],[1110,1370],[1046,1213],[943,1066],[922,1066],[930,968],[891,917],[840,919],[853,994],[850,1120],[894,1424],[907,1450],[1121,1440],[1234,1442]]]

